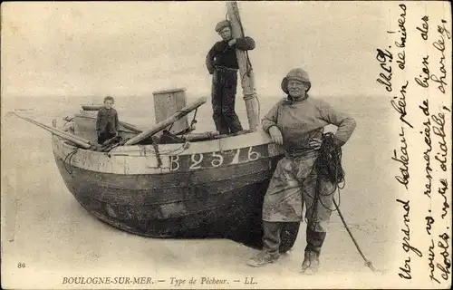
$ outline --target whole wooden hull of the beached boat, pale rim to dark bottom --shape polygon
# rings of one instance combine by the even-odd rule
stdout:
[[[96,218],[145,237],[227,237],[260,247],[265,189],[282,151],[263,132],[181,146],[103,153],[53,136],[64,183]]]

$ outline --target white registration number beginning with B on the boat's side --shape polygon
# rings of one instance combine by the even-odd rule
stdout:
[[[230,164],[238,164],[268,157],[266,145],[238,148],[190,155],[169,156],[170,170],[189,171],[196,169],[212,169]]]

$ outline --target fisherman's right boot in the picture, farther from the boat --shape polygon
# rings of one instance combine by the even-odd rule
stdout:
[[[302,273],[305,275],[313,275],[318,272],[321,254],[321,247],[325,239],[325,232],[315,232],[310,227],[307,227],[307,247],[305,247],[304,262],[302,263]]]

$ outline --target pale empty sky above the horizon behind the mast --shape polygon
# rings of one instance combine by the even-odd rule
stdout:
[[[302,67],[313,92],[372,94],[376,48],[389,24],[370,2],[239,2],[260,95]],[[2,97],[151,95],[185,87],[207,95],[205,57],[220,38],[224,2],[4,3]],[[240,94],[240,88],[238,89]]]

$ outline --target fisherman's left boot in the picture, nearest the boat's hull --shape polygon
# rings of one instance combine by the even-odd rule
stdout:
[[[282,226],[280,222],[263,221],[263,251],[250,258],[247,261],[248,266],[266,266],[278,260]]]

